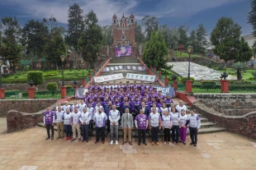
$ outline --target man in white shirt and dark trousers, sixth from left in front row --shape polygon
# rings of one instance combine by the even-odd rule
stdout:
[[[106,121],[107,115],[102,112],[102,108],[98,108],[98,112],[94,114],[93,121],[96,126],[96,140],[95,144],[97,144],[101,132],[102,136],[102,144],[105,144],[105,129],[106,129]]]

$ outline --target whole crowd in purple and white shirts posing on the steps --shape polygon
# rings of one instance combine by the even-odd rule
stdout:
[[[67,101],[55,108],[46,108],[44,123],[47,130],[47,138],[54,139],[54,123],[56,122],[58,138],[88,142],[92,136],[93,125],[96,129],[95,144],[99,142],[101,133],[102,144],[105,143],[105,136],[111,133],[111,142],[118,145],[118,129],[123,130],[123,143],[132,145],[131,131],[136,129],[138,134],[138,145],[144,145],[145,134],[151,135],[151,144],[159,145],[159,133],[164,133],[164,144],[178,145],[182,142],[186,145],[187,127],[189,127],[192,142],[197,146],[197,131],[201,126],[200,118],[193,110],[187,111],[183,101],[175,107],[170,95],[164,97],[161,91],[157,91],[152,84],[146,86],[144,82],[133,85],[127,81],[126,85],[89,85],[88,92],[80,103],[74,101],[69,105]],[[107,126],[107,133],[105,134]],[[51,130],[51,136],[50,136]],[[81,135],[82,130],[82,135]],[[77,132],[77,133],[76,133]],[[73,137],[72,137],[73,136]],[[77,137],[78,136],[78,137]]]

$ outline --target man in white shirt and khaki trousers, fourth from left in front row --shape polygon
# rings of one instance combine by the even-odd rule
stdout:
[[[73,142],[73,140],[76,140],[77,136],[76,136],[76,131],[78,131],[78,141],[81,141],[81,130],[80,130],[80,122],[79,122],[79,117],[80,117],[80,113],[78,111],[78,107],[74,107],[73,109],[73,113],[71,113],[71,126],[72,126],[72,131],[73,131],[73,139],[71,140],[71,142]]]

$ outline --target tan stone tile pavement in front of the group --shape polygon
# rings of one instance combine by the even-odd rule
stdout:
[[[0,169],[3,170],[149,170],[149,169],[255,169],[256,140],[229,132],[199,135],[192,145],[94,144],[45,140],[45,129],[32,127],[7,134],[0,118]],[[190,140],[187,138],[187,144]],[[121,143],[121,141],[120,141]],[[132,152],[129,149],[133,149]],[[135,151],[135,152],[134,152]],[[124,153],[126,152],[126,153]]]

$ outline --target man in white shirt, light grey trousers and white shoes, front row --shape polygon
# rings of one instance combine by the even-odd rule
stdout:
[[[112,105],[112,110],[109,112],[109,121],[110,121],[110,136],[111,142],[110,145],[113,145],[113,136],[114,136],[114,129],[116,134],[116,145],[118,145],[118,121],[120,119],[120,113],[116,110],[116,105]]]

